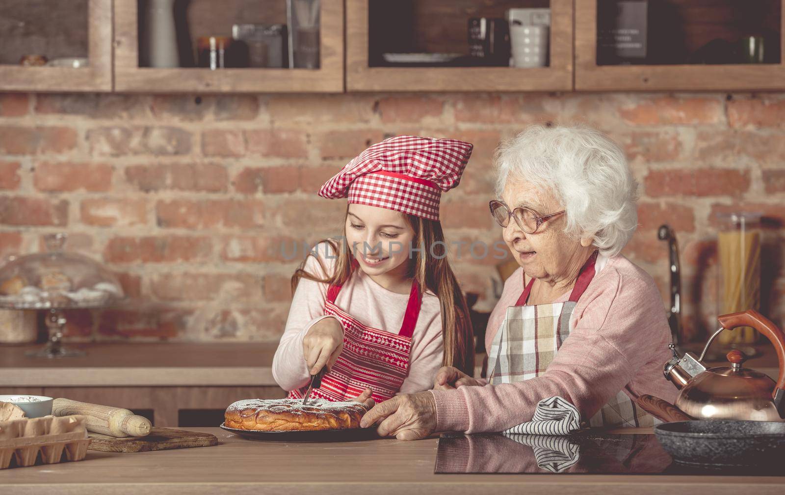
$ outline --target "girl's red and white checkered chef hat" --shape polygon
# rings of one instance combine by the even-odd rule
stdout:
[[[457,139],[388,138],[347,163],[319,196],[438,220],[441,193],[461,181],[472,148]]]

